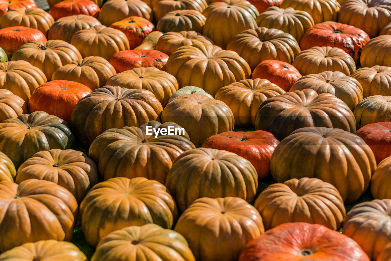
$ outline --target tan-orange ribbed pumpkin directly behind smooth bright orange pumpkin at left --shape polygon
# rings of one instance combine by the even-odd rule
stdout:
[[[88,56],[70,62],[53,72],[52,80],[68,80],[82,83],[92,91],[106,85],[115,69],[106,59]]]

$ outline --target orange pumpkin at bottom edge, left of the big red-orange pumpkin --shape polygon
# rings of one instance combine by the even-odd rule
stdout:
[[[198,261],[236,261],[240,249],[265,232],[256,209],[233,197],[197,199],[175,231],[187,239]]]

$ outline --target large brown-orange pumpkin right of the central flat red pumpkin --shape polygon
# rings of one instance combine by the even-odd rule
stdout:
[[[330,164],[339,167],[330,169]],[[376,161],[371,148],[359,136],[341,129],[308,127],[295,130],[277,145],[270,169],[280,183],[303,177],[328,182],[350,204],[368,188]]]

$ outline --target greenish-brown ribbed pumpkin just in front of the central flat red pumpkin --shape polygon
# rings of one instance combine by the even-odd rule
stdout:
[[[195,199],[255,198],[258,175],[250,161],[233,152],[197,148],[181,154],[167,174],[166,187],[181,211]]]

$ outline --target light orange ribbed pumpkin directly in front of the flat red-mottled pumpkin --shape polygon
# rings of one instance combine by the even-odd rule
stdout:
[[[106,85],[151,91],[163,107],[167,105],[170,96],[178,90],[178,82],[174,76],[155,67],[120,72],[112,76]]]

